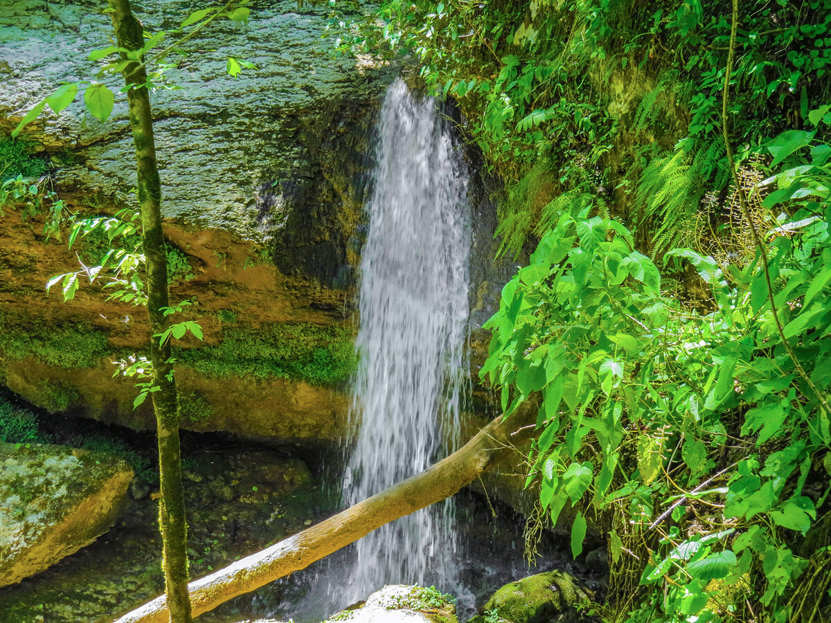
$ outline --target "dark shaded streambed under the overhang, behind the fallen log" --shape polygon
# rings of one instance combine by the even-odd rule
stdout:
[[[204,576],[331,513],[302,461],[268,450],[212,449],[185,460],[190,576]],[[158,483],[151,485],[158,491]],[[0,589],[6,623],[111,623],[164,591],[159,503],[125,499],[112,529],[47,573]],[[281,593],[281,586],[272,590]],[[234,603],[208,621],[239,621]]]

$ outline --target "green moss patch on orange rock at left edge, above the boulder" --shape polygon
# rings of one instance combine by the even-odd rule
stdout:
[[[110,354],[106,331],[85,322],[50,325],[44,318],[0,313],[0,354],[36,356],[61,368],[91,368]]]

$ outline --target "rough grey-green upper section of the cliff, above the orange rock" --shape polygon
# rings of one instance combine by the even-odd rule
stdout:
[[[163,212],[199,228],[273,238],[287,272],[327,284],[348,272],[347,240],[360,217],[353,183],[365,164],[366,131],[388,67],[334,59],[322,40],[327,7],[295,0],[252,2],[247,24],[219,19],[172,54],[167,81],[180,90],[151,95],[163,184]],[[194,0],[134,2],[148,32],[172,30],[202,7]],[[0,7],[0,130],[60,81],[90,79],[104,61],[92,50],[111,44],[100,2],[18,0]],[[164,45],[173,42],[165,38]],[[234,79],[229,56],[253,62]],[[102,78],[111,89],[120,77]],[[51,111],[25,135],[48,154],[68,151],[61,187],[135,204],[132,137],[126,102],[111,120],[86,113],[81,97]]]

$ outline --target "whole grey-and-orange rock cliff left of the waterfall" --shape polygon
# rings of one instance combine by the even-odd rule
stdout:
[[[157,32],[175,29],[204,3],[133,5],[147,31]],[[335,59],[332,43],[321,38],[324,4],[250,6],[247,24],[217,20],[182,46],[186,56],[168,58],[177,67],[167,79],[181,89],[151,94],[165,235],[187,273],[171,281],[171,299],[194,302],[189,317],[178,320],[198,320],[208,350],[224,349],[224,367],[209,373],[205,366],[217,353],[205,351],[196,362],[182,357],[183,402],[192,406],[189,396],[195,397],[197,405],[184,426],[337,439],[351,365],[367,137],[394,70]],[[111,44],[112,25],[93,0],[20,0],[0,2],[0,32],[3,140],[60,81],[96,75],[103,61],[87,57]],[[165,38],[162,47],[173,40]],[[229,56],[258,69],[234,79],[225,71]],[[120,86],[115,76],[102,80],[113,91]],[[61,199],[82,213],[135,207],[132,138],[125,99],[116,95],[106,123],[86,113],[78,96],[60,115],[47,109],[23,135],[34,156],[51,163]],[[7,216],[0,223],[0,381],[52,412],[152,426],[149,401],[134,412],[133,384],[112,379],[110,363],[145,349],[145,312],[106,302],[95,286],[85,285],[67,304],[54,289],[44,297],[50,277],[77,269],[75,253],[83,255],[84,243],[69,252],[66,243],[40,235],[37,218],[22,223],[19,213]],[[56,341],[54,327],[67,339]],[[298,331],[303,339],[293,343],[302,342],[302,353],[272,349],[263,356],[265,342],[288,343],[269,336]],[[57,343],[68,357],[47,353]],[[190,346],[201,344],[184,342]],[[251,361],[234,365],[238,351]],[[81,352],[86,356],[72,355]],[[273,370],[263,371],[267,359]],[[258,365],[253,373],[252,365]],[[200,409],[202,403],[212,408]]]

